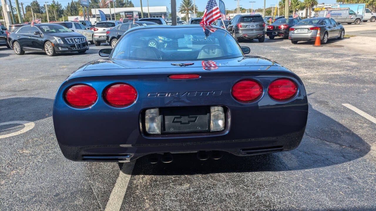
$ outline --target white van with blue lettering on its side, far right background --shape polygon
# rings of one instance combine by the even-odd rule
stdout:
[[[320,11],[317,17],[326,17],[328,13],[330,13],[330,17],[337,23],[359,24],[363,20],[362,15],[356,14],[352,9],[336,9],[330,11],[325,9]]]

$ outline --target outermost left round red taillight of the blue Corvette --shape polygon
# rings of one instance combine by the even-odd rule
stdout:
[[[65,100],[73,107],[86,108],[97,101],[96,90],[85,84],[71,86],[65,91]]]

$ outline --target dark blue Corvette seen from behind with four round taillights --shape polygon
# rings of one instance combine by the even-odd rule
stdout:
[[[171,153],[256,155],[302,140],[308,101],[300,78],[246,56],[220,28],[141,26],[73,72],[53,107],[56,137],[74,161],[168,163]],[[150,40],[158,48],[148,46]]]

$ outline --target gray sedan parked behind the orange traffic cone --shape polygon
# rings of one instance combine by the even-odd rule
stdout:
[[[288,39],[293,44],[298,41],[315,41],[319,28],[321,44],[326,44],[329,39],[343,39],[345,35],[343,26],[332,18],[307,18],[290,27]]]

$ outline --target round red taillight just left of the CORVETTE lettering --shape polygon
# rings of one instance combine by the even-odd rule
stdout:
[[[137,91],[129,84],[113,84],[105,89],[103,98],[112,106],[125,107],[136,100]]]

